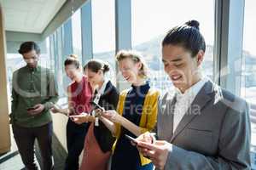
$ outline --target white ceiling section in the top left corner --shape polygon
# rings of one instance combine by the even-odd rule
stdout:
[[[66,0],[0,0],[6,31],[42,33]]]

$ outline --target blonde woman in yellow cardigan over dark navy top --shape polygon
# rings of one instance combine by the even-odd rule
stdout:
[[[150,160],[139,154],[125,134],[136,138],[153,130],[157,119],[159,92],[147,82],[146,65],[140,54],[122,50],[116,55],[119,71],[131,88],[120,93],[117,111],[103,111],[100,120],[116,137],[112,170],[152,170]]]

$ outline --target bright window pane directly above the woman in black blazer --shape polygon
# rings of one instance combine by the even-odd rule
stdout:
[[[108,77],[115,71],[115,23],[114,0],[92,0],[93,58],[107,61],[111,66]],[[115,82],[114,79],[111,79]]]

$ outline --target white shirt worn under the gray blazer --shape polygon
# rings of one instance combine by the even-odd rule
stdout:
[[[202,77],[199,82],[196,82],[192,87],[188,88],[183,94],[178,88],[175,88],[176,93],[176,104],[175,110],[173,112],[173,131],[175,132],[177,125],[181,122],[183,116],[189,109],[189,106],[192,104],[195,96],[199,93],[201,88],[209,79],[207,77]]]

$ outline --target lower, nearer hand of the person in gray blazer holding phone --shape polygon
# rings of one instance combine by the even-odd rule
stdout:
[[[165,140],[156,140],[154,144],[138,141],[137,149],[143,156],[148,157],[157,169],[162,170],[165,168],[169,150],[172,150],[172,144]]]

